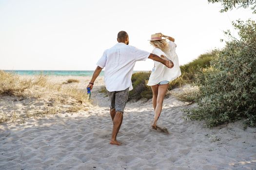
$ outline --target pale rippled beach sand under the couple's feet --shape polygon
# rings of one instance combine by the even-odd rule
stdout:
[[[90,80],[48,79],[61,84],[70,78],[79,80],[72,85],[82,90]],[[102,85],[103,77],[98,77],[88,110],[1,123],[0,170],[256,170],[256,128],[244,130],[237,121],[209,129],[203,121],[185,120],[182,109],[196,105],[171,94],[189,86],[168,92],[163,103],[158,125],[169,135],[151,128],[151,100],[132,101],[126,104],[118,133],[122,145],[110,145],[113,124],[108,97],[99,93]],[[8,96],[1,99],[5,100],[0,100],[0,112],[6,112],[6,104],[22,112],[22,102]]]

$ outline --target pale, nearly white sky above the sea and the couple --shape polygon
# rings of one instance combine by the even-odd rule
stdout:
[[[119,31],[151,52],[151,34],[175,38],[179,64],[224,46],[231,21],[256,19],[250,9],[220,13],[207,0],[0,0],[0,69],[94,70]],[[151,70],[153,61],[134,70]]]

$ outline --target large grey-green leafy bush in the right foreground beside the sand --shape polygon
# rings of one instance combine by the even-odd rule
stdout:
[[[256,125],[256,22],[233,22],[239,39],[232,40],[202,68],[195,85],[199,86],[198,107],[187,110],[189,119],[204,119],[208,127],[246,119]]]

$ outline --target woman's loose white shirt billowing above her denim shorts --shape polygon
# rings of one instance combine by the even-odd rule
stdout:
[[[176,53],[177,45],[172,41],[168,42],[168,44],[169,44],[169,49],[167,51],[161,51],[160,49],[155,48],[152,51],[152,53],[158,56],[161,56],[161,55],[166,56],[168,59],[172,60],[172,62],[174,63],[174,67],[167,68],[163,64],[157,61],[154,61],[155,67],[152,70],[152,73],[149,77],[149,81],[147,85],[157,85],[159,82],[164,80],[170,82],[181,75],[181,71],[178,63],[178,56]]]

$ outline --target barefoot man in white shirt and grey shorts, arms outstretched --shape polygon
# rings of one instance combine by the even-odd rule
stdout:
[[[94,81],[98,77],[102,68],[105,67],[105,86],[110,99],[110,115],[113,120],[113,132],[110,144],[121,145],[117,141],[117,134],[122,124],[123,111],[128,99],[129,90],[133,89],[132,74],[136,61],[150,58],[164,64],[168,68],[173,68],[171,60],[165,60],[147,51],[138,50],[129,46],[129,37],[125,31],[118,33],[118,44],[104,51],[98,60],[97,68],[93,73],[91,82],[87,87],[93,88]]]

